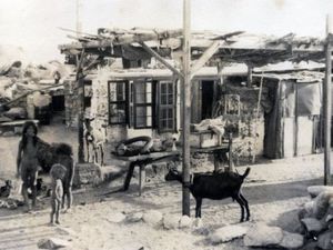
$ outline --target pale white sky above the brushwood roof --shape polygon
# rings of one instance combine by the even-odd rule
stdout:
[[[182,0],[80,0],[83,31],[99,27],[181,28]],[[192,29],[323,37],[333,0],[192,0]],[[62,59],[58,44],[75,29],[75,0],[0,0],[0,44],[34,62]]]

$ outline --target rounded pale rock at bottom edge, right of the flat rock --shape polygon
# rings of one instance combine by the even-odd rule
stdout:
[[[276,247],[282,239],[283,230],[281,228],[258,223],[248,230],[244,244],[246,247]]]

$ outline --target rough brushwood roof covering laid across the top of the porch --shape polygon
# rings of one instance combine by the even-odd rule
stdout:
[[[69,30],[68,30],[69,31]],[[88,54],[99,57],[121,57],[144,59],[151,56],[139,44],[145,42],[160,56],[172,58],[182,50],[182,30],[105,29],[97,34],[81,33],[69,36],[74,42],[59,46],[62,53],[80,54],[84,49]],[[198,59],[214,42],[219,49],[212,60],[238,62],[254,67],[279,61],[322,61],[325,40],[311,37],[296,37],[289,33],[283,37],[258,36],[248,32],[194,31],[191,39],[192,59]]]

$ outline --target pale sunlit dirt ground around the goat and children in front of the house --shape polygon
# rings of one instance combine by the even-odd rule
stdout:
[[[41,128],[40,137],[50,142],[69,142],[77,148],[77,132],[59,122]],[[1,180],[14,177],[18,141],[19,137],[0,137]],[[243,172],[245,168],[236,169]],[[252,212],[250,223],[262,221],[296,231],[297,208],[310,200],[306,187],[321,184],[322,173],[322,154],[251,166],[250,176],[243,186]],[[208,240],[208,234],[215,229],[239,222],[240,208],[231,199],[203,201],[202,222],[205,230],[201,232],[191,229],[164,230],[144,222],[111,222],[108,219],[118,212],[129,214],[152,209],[163,214],[181,216],[182,191],[179,183],[165,182],[163,174],[152,177],[148,173],[141,197],[138,196],[137,178],[129,191],[102,196],[121,187],[122,181],[123,178],[97,189],[75,190],[74,207],[71,212],[61,214],[59,227],[48,224],[48,198],[39,200],[39,209],[33,213],[23,213],[21,208],[0,209],[0,249],[37,249],[40,239],[50,237],[69,240],[70,247],[65,249],[246,249],[241,239],[218,246]],[[194,214],[192,198],[191,214]]]

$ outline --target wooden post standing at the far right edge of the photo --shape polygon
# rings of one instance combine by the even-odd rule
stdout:
[[[326,71],[324,81],[324,184],[331,184],[331,70],[332,70],[332,49],[331,49],[331,19],[326,18]]]

